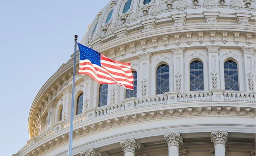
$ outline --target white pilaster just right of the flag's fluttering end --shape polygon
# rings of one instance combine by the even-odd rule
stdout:
[[[150,63],[151,63],[151,52],[147,52],[144,54],[137,55],[139,57],[140,61],[140,73],[138,73],[138,76],[140,76],[140,82],[137,82],[137,86],[141,86],[141,89],[137,92],[137,98],[150,96],[151,90],[150,90]]]

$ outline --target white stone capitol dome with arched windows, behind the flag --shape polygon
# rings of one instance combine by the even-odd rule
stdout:
[[[255,1],[111,0],[81,44],[131,63],[134,90],[77,74],[70,121],[71,55],[14,156],[67,156],[70,124],[73,156],[255,156]]]

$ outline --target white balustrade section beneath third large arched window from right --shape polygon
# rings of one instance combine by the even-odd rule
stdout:
[[[153,106],[158,104],[167,104],[167,98],[168,96],[165,94],[150,96],[147,98],[139,98],[135,100],[135,108]]]

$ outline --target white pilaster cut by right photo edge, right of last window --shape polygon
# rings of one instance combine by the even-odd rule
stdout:
[[[241,47],[241,52],[244,54],[245,91],[247,92],[255,92],[254,51],[254,47]]]

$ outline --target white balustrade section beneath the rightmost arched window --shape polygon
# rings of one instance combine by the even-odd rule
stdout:
[[[249,101],[255,102],[255,93],[225,91],[223,93],[224,101]]]

